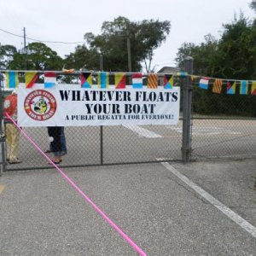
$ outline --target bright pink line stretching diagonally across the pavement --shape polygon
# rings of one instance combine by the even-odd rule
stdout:
[[[55,166],[55,168],[57,169],[57,171],[61,173],[61,176],[64,177],[64,178],[67,180],[67,182],[70,183],[70,184],[73,186],[73,188],[76,189],[76,190],[79,192],[79,194],[82,195],[82,196],[84,197],[84,199],[90,203],[90,205],[91,205],[92,207],[95,208],[96,212],[100,213],[100,214],[102,215],[102,217],[108,222],[108,224],[110,224],[110,225],[113,227],[113,229],[115,229],[115,230],[119,233],[120,236],[123,236],[123,238],[125,238],[125,240],[131,245],[131,247],[133,247],[133,248],[137,251],[137,253],[139,253],[139,254],[142,255],[142,256],[147,256],[147,254],[144,253],[143,250],[142,250],[140,247],[138,247],[137,244],[136,244],[134,241],[132,241],[131,238],[130,238],[129,236],[127,236],[127,235],[125,234],[125,232],[124,232],[123,230],[121,230],[117,224],[114,224],[113,221],[112,221],[110,218],[108,218],[108,216],[107,216],[104,212],[102,212],[102,210],[101,210],[99,207],[97,207],[96,204],[95,204],[93,201],[91,201],[90,198],[89,198],[87,195],[84,194],[84,192],[82,191],[82,189],[80,189],[79,186],[78,186],[76,183],[74,183],[73,180],[72,180],[70,177],[68,177],[67,174],[66,174],[65,172],[63,172],[59,166],[56,166],[56,165],[55,165],[55,163],[49,158],[49,156],[48,156],[47,154],[44,154],[44,151],[43,151],[41,148],[38,147],[37,143],[35,143],[35,142],[32,140],[31,137],[29,137],[29,136],[26,135],[26,132],[23,131],[23,130],[20,128],[19,125],[16,124],[15,120],[12,119],[12,118],[9,116],[8,113],[6,113],[6,115],[7,115],[7,117],[14,123],[14,125],[20,130],[20,132],[26,137],[26,139],[27,139],[30,143],[32,143],[32,145],[33,145],[36,149],[38,149],[38,151],[44,156],[44,158],[46,158],[47,160],[49,160],[49,162],[50,162],[53,166]]]

